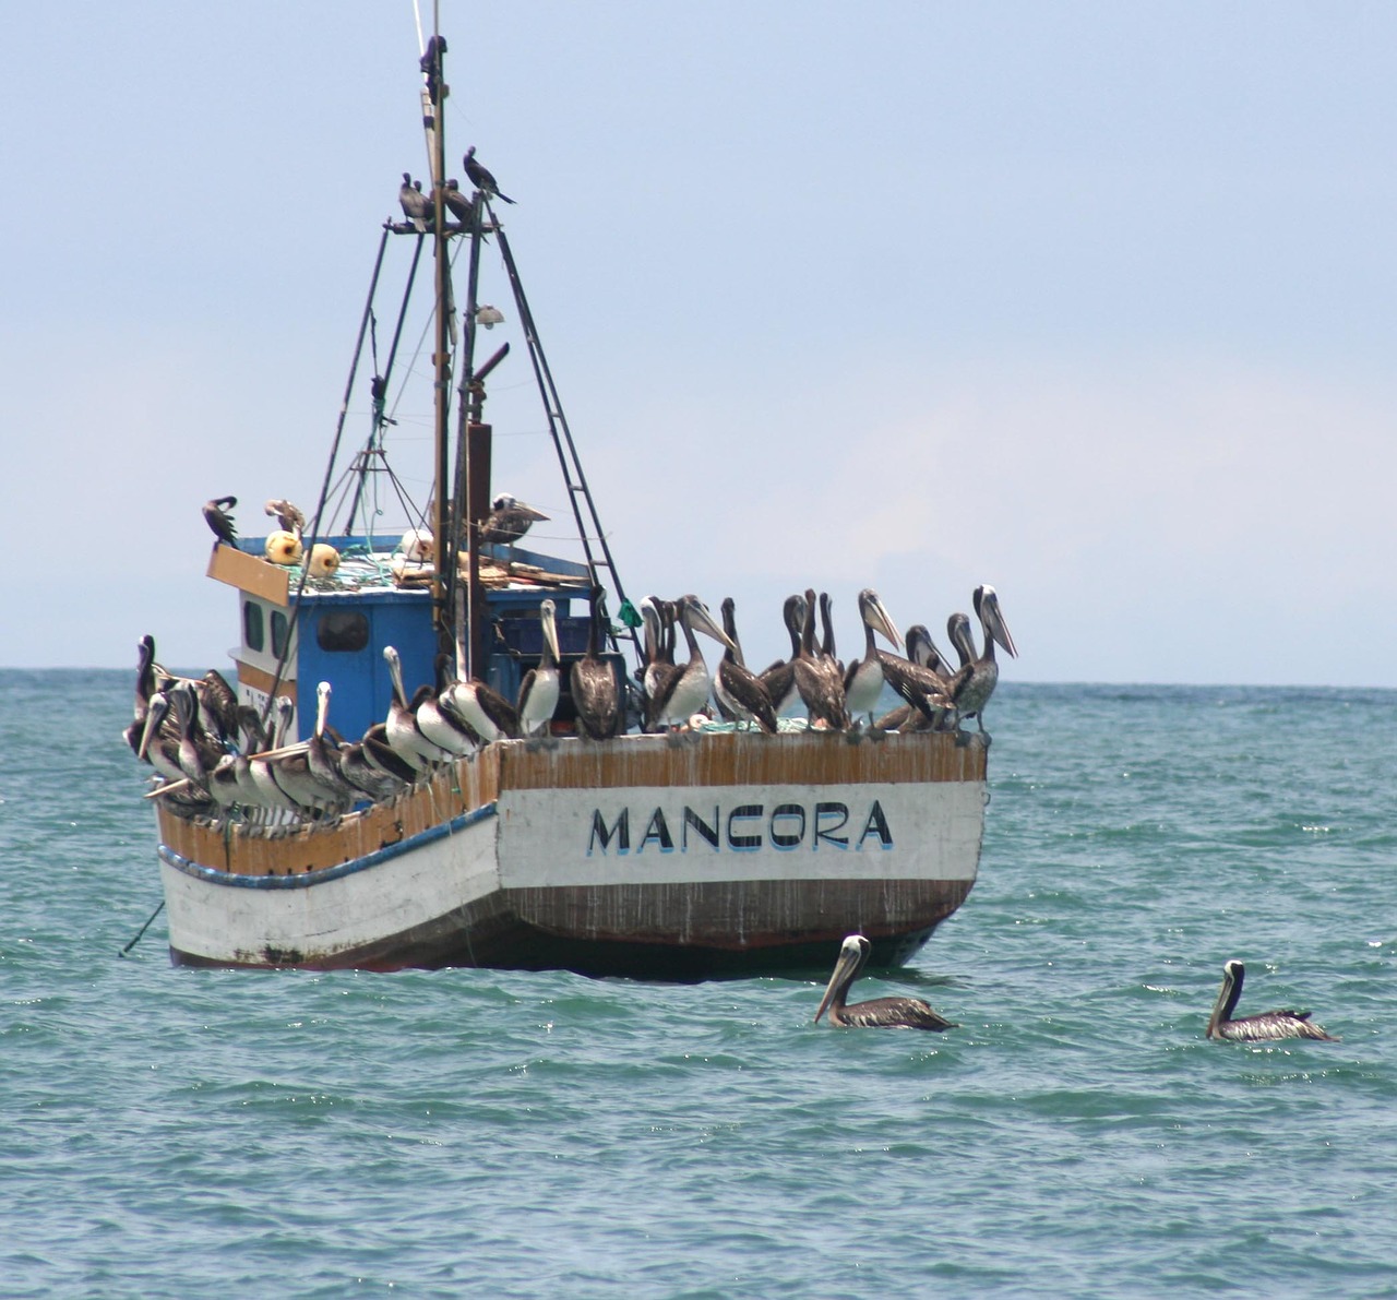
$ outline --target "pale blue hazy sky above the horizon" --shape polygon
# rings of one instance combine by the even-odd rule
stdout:
[[[151,632],[226,668],[200,507],[236,495],[257,535],[267,498],[319,496],[380,225],[426,171],[411,0],[6,25],[0,665],[134,667]],[[852,654],[859,588],[944,647],[988,582],[1004,679],[1397,686],[1397,8],[443,0],[441,27],[448,172],[475,144],[517,200],[633,598],[733,595],[764,665],[791,591],[833,593]],[[560,520],[485,277],[495,486]],[[414,491],[426,401],[394,398]]]

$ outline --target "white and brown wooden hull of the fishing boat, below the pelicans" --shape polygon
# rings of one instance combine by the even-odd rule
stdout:
[[[162,808],[175,962],[705,978],[904,960],[968,895],[985,749],[946,734],[506,742],[335,826]]]

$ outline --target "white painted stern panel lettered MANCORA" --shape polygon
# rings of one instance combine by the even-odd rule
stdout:
[[[928,781],[510,790],[500,794],[499,822],[506,889],[972,881],[985,787]]]

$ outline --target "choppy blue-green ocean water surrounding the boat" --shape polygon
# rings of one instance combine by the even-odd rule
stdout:
[[[1028,686],[821,983],[172,969],[130,674],[0,672],[0,1294],[1397,1294],[1397,692]],[[1340,1044],[1208,1043],[1313,1008]]]

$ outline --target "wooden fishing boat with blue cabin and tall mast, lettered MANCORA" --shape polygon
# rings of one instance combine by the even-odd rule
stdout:
[[[282,527],[239,537],[226,499],[205,507],[217,534],[208,576],[236,593],[242,632],[225,752],[197,752],[208,692],[161,670],[154,646],[142,653],[130,738],[152,762],[163,753],[168,769],[149,797],[172,960],[694,980],[827,966],[851,932],[872,941],[875,962],[905,960],[975,881],[988,738],[800,720],[774,734],[698,721],[640,730],[640,619],[500,215],[513,200],[474,150],[471,186],[448,176],[444,53],[433,38],[422,56],[430,178],[422,187],[405,178],[405,219],[383,225],[316,509],[307,521],[289,502],[268,502]],[[401,317],[387,365],[365,382],[359,359],[390,249],[411,250],[409,278],[423,253],[433,266],[434,485],[416,523],[409,514],[412,526],[386,540],[366,502],[384,484],[401,489],[386,412]],[[518,524],[490,527],[493,513],[518,506],[493,492],[485,419],[510,344],[478,355],[479,330],[503,317],[482,295],[496,264],[580,558],[521,545]],[[337,479],[345,412],[365,383],[369,433]],[[619,734],[583,734],[573,691],[583,660],[612,674]],[[393,748],[395,720],[414,725],[411,686],[441,700],[454,681],[517,702],[541,672],[557,693],[532,734],[517,718],[490,734],[481,721],[458,752],[433,755],[429,744],[419,763]],[[379,786],[339,788],[321,772],[320,787],[296,794],[292,767],[314,777],[317,759],[339,773],[367,763]]]

